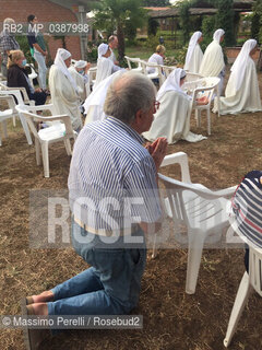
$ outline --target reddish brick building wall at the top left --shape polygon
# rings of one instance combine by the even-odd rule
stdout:
[[[60,7],[48,0],[0,0],[0,22],[5,18],[11,18],[15,22],[27,22],[28,14],[35,14],[38,22],[76,22],[76,15],[69,9]],[[55,40],[52,36],[45,36],[53,60],[57,49],[62,47],[61,39]],[[74,59],[81,59],[81,48],[79,36],[66,37],[67,49]]]

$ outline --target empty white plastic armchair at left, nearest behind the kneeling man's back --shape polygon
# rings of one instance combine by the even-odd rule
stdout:
[[[59,116],[43,117],[31,112],[32,109],[35,109],[35,110],[38,109],[38,107],[39,106],[32,108],[32,106],[19,105],[16,106],[16,109],[20,113],[20,115],[22,115],[26,119],[31,128],[31,131],[35,137],[36,163],[37,165],[40,165],[40,150],[41,150],[44,175],[45,177],[49,177],[49,155],[48,155],[49,143],[63,141],[68,155],[71,155],[72,151],[70,145],[70,139],[75,140],[78,133],[73,130],[71,119],[69,116],[59,115]],[[39,131],[37,131],[35,127],[35,121],[36,122],[37,121],[45,121],[45,122],[56,121],[56,122],[48,128],[40,129]]]

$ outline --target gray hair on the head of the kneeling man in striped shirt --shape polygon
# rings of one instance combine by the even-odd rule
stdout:
[[[104,112],[108,116],[131,124],[138,110],[150,110],[155,94],[156,89],[147,77],[135,72],[123,73],[108,88]]]

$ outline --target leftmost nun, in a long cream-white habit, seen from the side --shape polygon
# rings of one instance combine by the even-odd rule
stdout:
[[[59,48],[50,68],[49,89],[56,114],[70,116],[73,129],[79,132],[82,128],[79,88],[68,70],[70,65],[71,54]]]

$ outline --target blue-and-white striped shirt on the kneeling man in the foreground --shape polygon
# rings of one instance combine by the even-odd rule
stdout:
[[[92,230],[122,230],[162,217],[156,167],[141,136],[108,117],[86,125],[68,179],[74,217]]]

